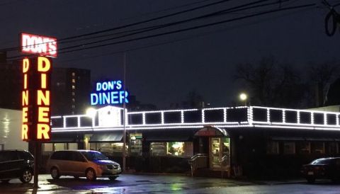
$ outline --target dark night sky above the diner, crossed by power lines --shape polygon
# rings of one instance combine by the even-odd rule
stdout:
[[[18,46],[18,34],[21,32],[61,39],[144,21],[212,2],[217,1],[1,0],[0,48]],[[216,6],[120,31],[179,21],[249,2],[254,1],[225,1]],[[237,11],[121,40],[223,21],[279,6],[285,8],[314,2],[318,1],[292,0],[281,5]],[[184,6],[186,4],[190,5]],[[340,6],[337,8],[340,11]],[[233,79],[236,64],[256,62],[268,56],[301,67],[308,62],[339,62],[340,33],[338,30],[333,37],[324,33],[324,16],[327,13],[327,8],[322,4],[276,12],[157,38],[68,52],[54,59],[54,65],[91,69],[93,81],[123,79],[123,51],[126,50],[125,84],[130,93],[142,103],[153,103],[158,108],[166,108],[170,103],[183,101],[189,91],[196,90],[212,106],[228,106],[231,101],[235,101],[240,91],[239,83]],[[114,41],[118,40],[108,42]],[[58,46],[62,48],[79,43],[60,43]],[[9,52],[8,55],[16,56],[18,52]]]

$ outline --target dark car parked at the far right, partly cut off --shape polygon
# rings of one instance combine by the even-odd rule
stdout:
[[[340,178],[340,157],[315,159],[310,164],[302,166],[301,173],[308,183],[314,183],[316,178],[337,181]]]

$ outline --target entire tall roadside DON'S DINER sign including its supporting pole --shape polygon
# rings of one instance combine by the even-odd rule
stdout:
[[[20,52],[34,54],[22,62],[23,91],[21,95],[23,122],[21,139],[34,151],[33,188],[38,190],[41,142],[50,140],[50,76],[52,59],[57,57],[57,39],[21,33]]]

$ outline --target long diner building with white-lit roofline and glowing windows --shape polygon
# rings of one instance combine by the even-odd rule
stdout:
[[[319,156],[339,156],[340,113],[243,106],[52,116],[47,156],[60,149],[96,149],[121,161],[125,131],[129,171],[214,176],[298,173]],[[223,173],[222,173],[223,174]]]

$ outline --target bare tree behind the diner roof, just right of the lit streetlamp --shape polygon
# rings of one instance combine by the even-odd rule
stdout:
[[[297,108],[305,92],[299,75],[293,65],[263,57],[256,64],[239,64],[235,78],[246,85],[252,105]]]

